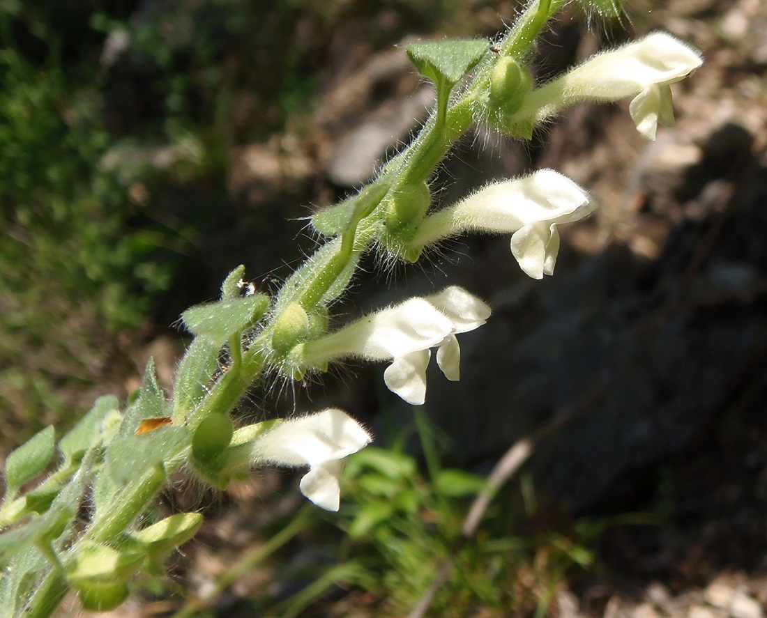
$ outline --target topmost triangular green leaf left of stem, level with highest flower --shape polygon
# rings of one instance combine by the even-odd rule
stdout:
[[[489,49],[485,40],[447,39],[446,41],[416,41],[410,43],[407,57],[418,72],[429,77],[437,86],[447,82],[457,84],[482,60]]]

